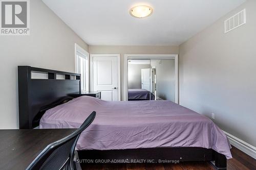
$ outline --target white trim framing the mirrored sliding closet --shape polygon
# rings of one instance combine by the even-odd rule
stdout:
[[[175,59],[175,103],[179,104],[179,55],[178,54],[125,54],[124,55],[124,100],[128,93],[128,59]]]

